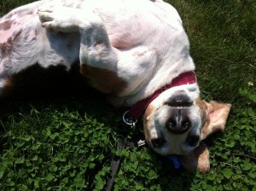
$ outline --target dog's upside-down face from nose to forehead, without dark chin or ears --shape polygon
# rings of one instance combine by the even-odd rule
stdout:
[[[190,113],[190,107],[167,105],[156,111],[154,123],[146,129],[149,145],[161,155],[192,152],[200,144],[201,130]]]

